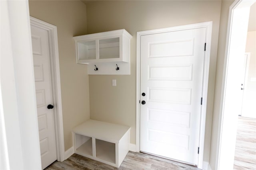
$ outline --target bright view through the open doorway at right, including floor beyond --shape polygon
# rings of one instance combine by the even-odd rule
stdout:
[[[242,108],[238,116],[234,170],[256,166],[256,2],[250,7],[244,67],[242,70]]]

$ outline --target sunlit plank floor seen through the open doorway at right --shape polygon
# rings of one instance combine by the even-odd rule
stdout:
[[[234,170],[256,170],[256,119],[238,118]]]

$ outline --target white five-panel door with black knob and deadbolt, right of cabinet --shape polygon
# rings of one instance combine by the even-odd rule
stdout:
[[[141,151],[198,164],[205,39],[206,28],[141,36]]]

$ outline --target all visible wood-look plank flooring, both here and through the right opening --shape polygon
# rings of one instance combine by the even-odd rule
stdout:
[[[55,161],[45,170],[200,170],[194,166],[143,153],[128,152],[120,168],[73,154],[63,162]],[[234,170],[256,170],[256,119],[239,117]]]

